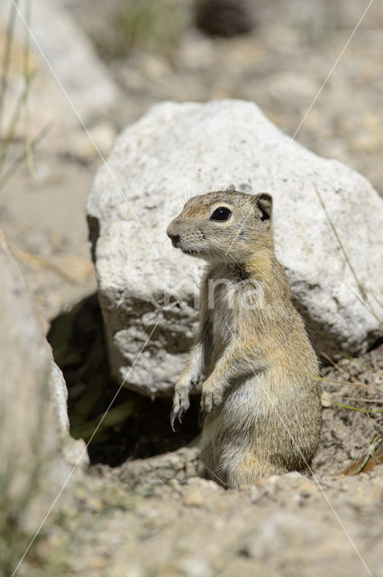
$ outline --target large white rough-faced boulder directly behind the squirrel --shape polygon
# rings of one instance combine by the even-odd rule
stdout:
[[[166,227],[187,196],[231,184],[272,193],[276,251],[317,351],[358,353],[377,337],[383,203],[369,182],[250,102],[165,103],[120,135],[87,202],[112,371],[132,389],[169,394],[196,332],[203,263]]]

